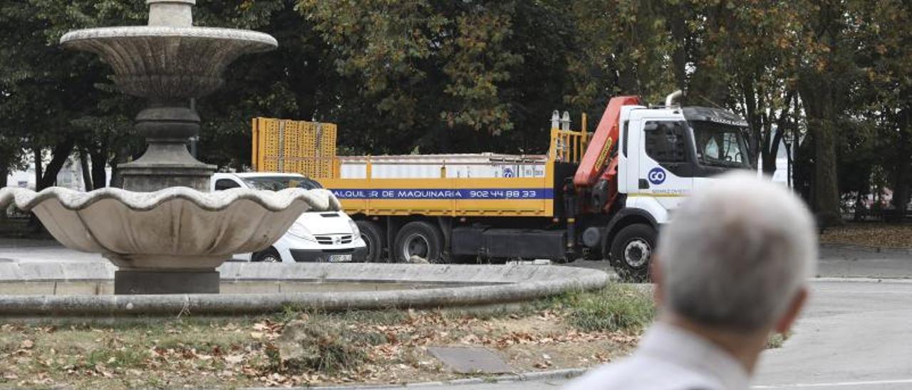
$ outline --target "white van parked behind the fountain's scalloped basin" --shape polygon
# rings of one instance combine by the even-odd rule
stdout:
[[[316,180],[294,173],[216,173],[212,190],[322,189]],[[358,225],[342,211],[308,211],[275,243],[254,253],[235,255],[251,262],[364,262],[367,245]]]

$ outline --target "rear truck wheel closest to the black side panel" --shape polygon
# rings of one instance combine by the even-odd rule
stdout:
[[[443,234],[425,222],[409,222],[396,234],[396,246],[390,256],[396,262],[443,262]]]

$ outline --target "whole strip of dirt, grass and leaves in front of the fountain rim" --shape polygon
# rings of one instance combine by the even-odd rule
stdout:
[[[648,294],[616,286],[503,313],[0,322],[0,387],[400,384],[467,376],[452,373],[430,346],[488,348],[516,373],[590,366],[627,354],[653,312]],[[617,321],[596,321],[605,313]],[[295,349],[299,354],[287,352]]]

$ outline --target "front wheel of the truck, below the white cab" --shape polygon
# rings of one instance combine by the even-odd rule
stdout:
[[[645,223],[634,223],[618,231],[611,241],[611,262],[622,279],[646,282],[655,251],[656,230]]]

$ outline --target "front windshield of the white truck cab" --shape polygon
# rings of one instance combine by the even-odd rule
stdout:
[[[743,128],[719,123],[690,121],[697,142],[700,164],[715,167],[750,168],[747,141]]]

